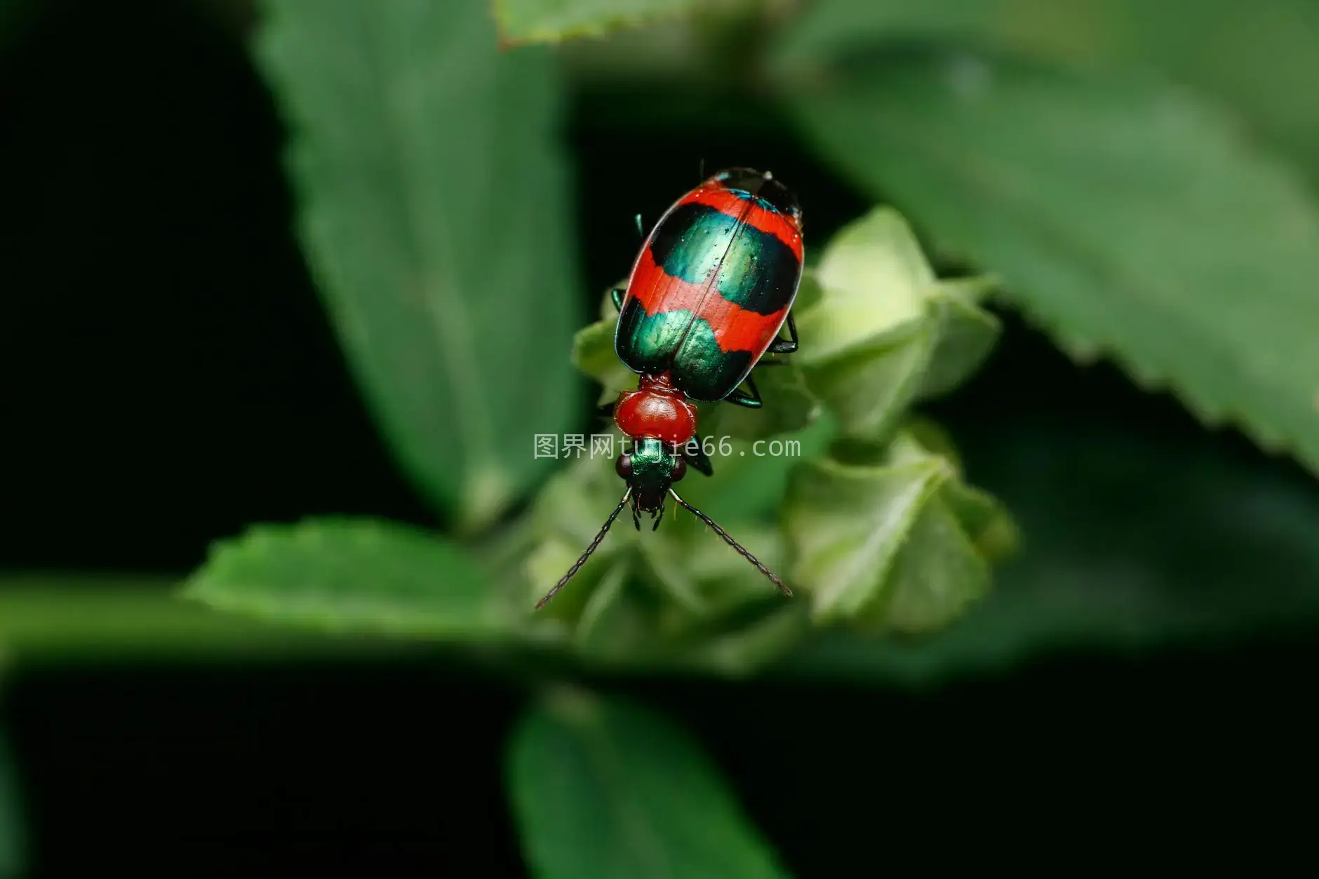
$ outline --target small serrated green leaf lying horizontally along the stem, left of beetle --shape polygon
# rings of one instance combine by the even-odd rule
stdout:
[[[216,544],[183,594],[339,632],[489,640],[518,619],[460,546],[369,519],[253,525]]]

